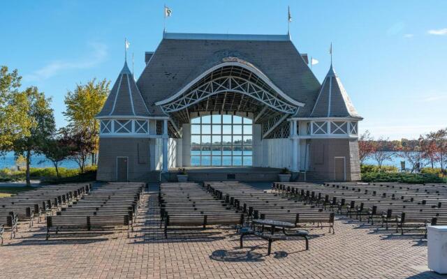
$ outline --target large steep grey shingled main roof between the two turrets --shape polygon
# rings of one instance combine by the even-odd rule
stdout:
[[[236,57],[253,64],[288,96],[305,103],[309,116],[320,83],[288,36],[166,33],[137,81],[149,112],[163,115],[154,103],[180,91],[223,59]]]

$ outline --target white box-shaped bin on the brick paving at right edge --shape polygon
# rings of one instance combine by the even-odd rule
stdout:
[[[427,226],[428,268],[447,274],[447,226]]]

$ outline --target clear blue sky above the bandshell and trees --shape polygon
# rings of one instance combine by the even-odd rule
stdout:
[[[322,81],[334,45],[334,67],[375,137],[418,137],[447,126],[447,1],[6,1],[0,10],[0,65],[17,68],[23,85],[52,96],[64,126],[64,96],[93,77],[115,82],[124,37],[135,53],[163,31],[163,5],[173,10],[170,32],[286,33],[320,63]]]

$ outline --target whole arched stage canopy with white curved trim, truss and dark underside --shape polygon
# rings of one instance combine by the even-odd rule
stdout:
[[[233,94],[229,99],[228,93]],[[258,103],[258,110],[252,112],[256,115],[254,122],[263,125],[263,137],[273,134],[272,132],[277,134],[275,129],[279,124],[287,117],[295,115],[299,108],[304,106],[303,103],[281,91],[261,70],[251,63],[234,57],[223,59],[223,63],[205,70],[173,96],[155,105],[159,105],[171,119],[181,115],[182,122],[187,123],[189,112],[204,111],[200,105],[203,102],[206,102],[205,112],[212,111],[208,109],[208,103],[212,99],[213,103],[220,102],[221,111],[228,113],[227,105],[229,105],[230,112],[244,112],[246,110],[241,111],[240,108],[242,100],[248,99],[247,97]],[[237,103],[240,105],[235,105]],[[215,104],[214,110],[216,110]]]

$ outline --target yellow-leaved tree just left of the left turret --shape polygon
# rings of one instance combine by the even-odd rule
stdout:
[[[87,84],[77,84],[74,91],[68,91],[65,96],[66,116],[68,128],[73,130],[71,134],[82,135],[83,140],[89,141],[87,146],[91,149],[91,163],[96,164],[96,153],[99,145],[99,121],[95,119],[96,114],[101,111],[107,99],[110,82],[96,79]],[[85,149],[83,149],[85,150]]]

